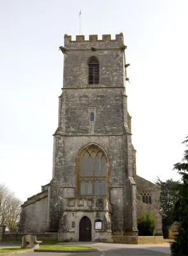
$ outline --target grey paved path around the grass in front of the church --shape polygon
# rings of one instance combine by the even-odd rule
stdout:
[[[19,246],[20,244],[0,244],[0,248]],[[106,244],[106,243],[59,243],[59,245],[92,246],[98,252],[89,253],[22,253],[22,256],[167,256],[170,255],[169,244]],[[20,255],[20,256],[21,256]]]

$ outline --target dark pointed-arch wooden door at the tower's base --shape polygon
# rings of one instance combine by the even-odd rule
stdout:
[[[87,216],[84,216],[80,220],[79,224],[79,241],[90,242],[91,241],[91,221]]]

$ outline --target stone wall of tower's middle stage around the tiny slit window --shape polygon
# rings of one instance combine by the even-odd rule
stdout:
[[[61,95],[61,125],[64,136],[122,134],[124,88],[69,88]],[[96,108],[94,129],[90,129],[89,107]],[[108,124],[108,125],[107,125]]]

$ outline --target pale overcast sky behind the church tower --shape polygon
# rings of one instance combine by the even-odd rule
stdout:
[[[0,183],[23,201],[52,179],[64,34],[124,33],[137,173],[179,179],[188,134],[187,0],[0,0]]]

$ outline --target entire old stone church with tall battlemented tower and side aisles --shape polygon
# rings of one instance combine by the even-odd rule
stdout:
[[[151,212],[161,235],[160,188],[136,175],[123,34],[64,35],[59,49],[64,77],[52,180],[22,205],[18,232],[108,241],[114,230],[138,236],[138,216]]]

